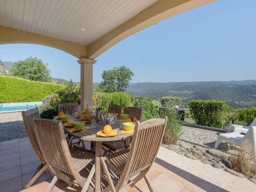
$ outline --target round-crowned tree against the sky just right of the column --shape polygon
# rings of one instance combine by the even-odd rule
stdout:
[[[134,74],[129,68],[125,66],[114,67],[108,71],[104,70],[102,73],[103,81],[100,83],[100,89],[103,92],[120,92],[125,91],[129,86]]]

